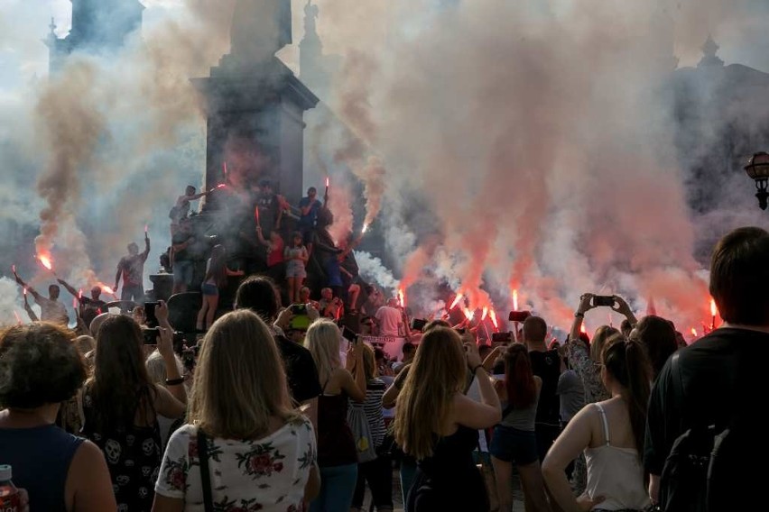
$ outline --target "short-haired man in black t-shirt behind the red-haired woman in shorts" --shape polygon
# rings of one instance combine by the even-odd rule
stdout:
[[[544,460],[556,437],[561,434],[561,399],[557,392],[558,379],[561,377],[561,358],[557,350],[547,350],[546,336],[547,324],[539,316],[529,316],[523,322],[523,343],[526,343],[529,349],[534,375],[542,379],[542,391],[534,424],[540,462]]]

